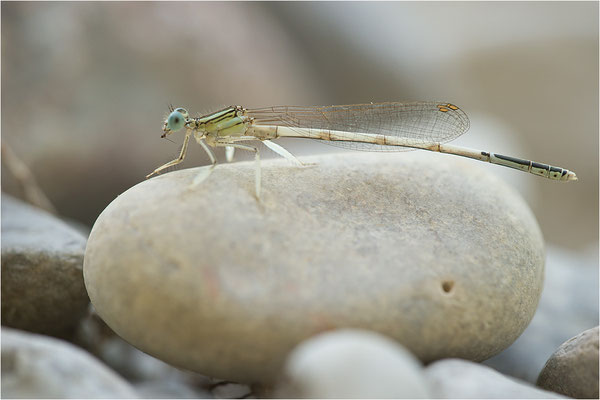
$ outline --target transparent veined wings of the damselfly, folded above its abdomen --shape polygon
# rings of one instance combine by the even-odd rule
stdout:
[[[253,117],[257,125],[372,133],[403,137],[420,143],[449,142],[469,129],[469,118],[464,111],[444,102],[393,102],[322,107],[275,106],[247,110],[247,115]],[[352,141],[325,143],[354,150],[411,150]]]

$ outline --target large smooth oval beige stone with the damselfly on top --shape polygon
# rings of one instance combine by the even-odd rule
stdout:
[[[525,329],[544,244],[494,167],[425,152],[302,161],[315,165],[263,161],[260,202],[252,162],[121,194],[86,248],[99,315],[155,357],[238,382],[273,380],[333,328],[382,333],[424,362],[483,360]]]

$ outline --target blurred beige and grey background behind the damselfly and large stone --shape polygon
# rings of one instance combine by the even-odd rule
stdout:
[[[440,100],[471,118],[457,144],[577,173],[565,184],[472,162],[523,195],[548,244],[597,265],[597,2],[1,7],[3,147],[60,215],[87,227],[177,156],[182,135],[160,138],[169,103],[197,115],[233,104]],[[305,142],[280,144],[299,156],[342,151]],[[23,198],[6,158],[2,189]],[[192,144],[181,167],[206,163]]]

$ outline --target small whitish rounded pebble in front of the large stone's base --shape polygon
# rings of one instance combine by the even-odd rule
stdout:
[[[393,340],[346,329],[296,347],[277,390],[280,398],[428,398],[421,363]]]

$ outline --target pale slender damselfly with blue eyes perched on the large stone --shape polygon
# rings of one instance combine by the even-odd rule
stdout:
[[[193,134],[211,160],[211,165],[194,179],[194,185],[206,179],[217,164],[208,146],[226,147],[228,161],[231,161],[234,149],[248,150],[255,154],[255,189],[258,198],[261,186],[259,150],[240,142],[260,140],[277,154],[302,165],[287,150],[272,142],[280,137],[325,140],[336,146],[368,151],[437,151],[515,168],[553,180],[577,180],[574,172],[564,168],[445,144],[469,129],[467,115],[451,103],[392,102],[256,109],[231,106],[198,118],[190,118],[183,108],[174,109],[170,106],[169,111],[161,137],[186,128],[181,153],[177,159],[158,167],[146,178],[182,162]]]

